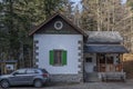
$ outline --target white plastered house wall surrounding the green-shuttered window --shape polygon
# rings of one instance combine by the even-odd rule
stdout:
[[[51,75],[78,73],[80,70],[78,60],[80,59],[78,50],[79,40],[83,40],[81,34],[34,34],[34,40],[39,40],[39,68],[45,68]],[[49,51],[53,49],[64,49],[68,51],[66,66],[51,66],[49,63]]]

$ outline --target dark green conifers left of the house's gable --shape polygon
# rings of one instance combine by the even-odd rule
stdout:
[[[63,0],[1,0],[0,59],[20,59],[23,46],[32,51],[29,31],[63,6]]]

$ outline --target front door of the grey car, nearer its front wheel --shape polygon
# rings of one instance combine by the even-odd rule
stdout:
[[[10,77],[10,82],[12,85],[24,85],[27,78],[25,78],[27,73],[25,73],[25,69],[20,69],[17,70],[12,73],[12,77]]]

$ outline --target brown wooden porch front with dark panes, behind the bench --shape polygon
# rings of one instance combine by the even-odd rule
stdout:
[[[120,53],[96,53],[98,72],[122,72],[123,55]]]

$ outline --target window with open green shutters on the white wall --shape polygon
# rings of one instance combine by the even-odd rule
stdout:
[[[66,51],[65,50],[50,50],[50,65],[52,66],[66,65]]]

